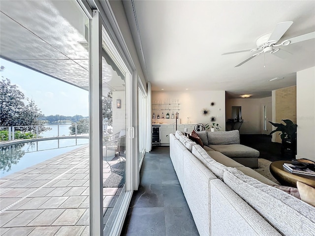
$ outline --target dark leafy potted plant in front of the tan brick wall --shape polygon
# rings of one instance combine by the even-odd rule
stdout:
[[[282,140],[281,152],[284,154],[284,151],[288,151],[290,154],[295,154],[296,150],[296,130],[297,124],[293,123],[292,120],[282,119],[283,123],[273,123],[269,121],[273,126],[276,127],[275,130],[270,132],[270,135],[280,131],[280,138]]]

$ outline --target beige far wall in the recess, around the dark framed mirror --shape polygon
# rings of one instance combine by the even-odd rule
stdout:
[[[232,118],[232,106],[241,106],[244,122],[240,134],[262,134],[263,104],[267,103],[271,103],[271,97],[226,99],[226,121]]]

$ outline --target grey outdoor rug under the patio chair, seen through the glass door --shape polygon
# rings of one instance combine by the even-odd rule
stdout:
[[[117,168],[118,167],[118,168]],[[125,168],[124,165],[118,163],[111,167],[110,176],[103,182],[103,187],[123,187],[125,184]]]

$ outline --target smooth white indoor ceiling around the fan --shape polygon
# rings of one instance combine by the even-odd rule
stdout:
[[[256,39],[277,23],[293,21],[279,40],[315,31],[315,1],[133,1],[126,7],[147,79],[153,90],[226,90],[231,97],[271,96],[296,85],[296,72],[315,66],[315,39],[283,46],[286,59],[266,53],[234,67],[253,52]],[[125,4],[126,6],[126,4]],[[130,17],[132,15],[132,17]],[[139,37],[141,47],[139,44]],[[264,57],[265,56],[265,57]],[[265,64],[265,68],[264,68]],[[284,77],[268,82],[274,77]]]

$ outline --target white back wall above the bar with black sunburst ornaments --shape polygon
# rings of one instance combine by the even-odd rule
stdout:
[[[189,118],[190,123],[206,124],[211,117],[216,117],[215,122],[222,127],[221,130],[225,130],[225,91],[152,91],[152,103],[159,99],[179,99],[181,123],[187,123]],[[215,105],[211,106],[211,102],[215,102]],[[210,111],[209,116],[202,115],[203,108]]]

